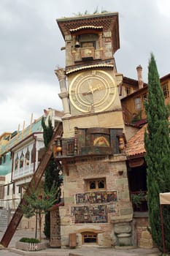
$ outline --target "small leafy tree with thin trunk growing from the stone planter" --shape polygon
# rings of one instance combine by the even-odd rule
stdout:
[[[49,191],[45,192],[43,190],[42,187],[39,187],[36,191],[32,188],[30,195],[25,194],[23,196],[27,204],[22,206],[26,218],[36,216],[39,219],[39,241],[42,240],[42,216],[56,201],[56,188],[54,186]]]

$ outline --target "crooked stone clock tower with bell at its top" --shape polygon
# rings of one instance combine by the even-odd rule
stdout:
[[[64,116],[56,159],[63,166],[58,208],[61,247],[133,244],[125,135],[114,54],[120,48],[117,12],[57,20],[66,67],[55,70]],[[53,228],[52,228],[53,229]]]

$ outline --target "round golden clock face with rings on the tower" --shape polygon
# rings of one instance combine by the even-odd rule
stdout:
[[[115,100],[115,80],[102,70],[84,71],[72,80],[69,99],[82,113],[107,110]]]

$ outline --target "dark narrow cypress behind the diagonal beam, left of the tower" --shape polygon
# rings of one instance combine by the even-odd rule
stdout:
[[[47,148],[48,143],[53,136],[53,126],[50,118],[48,119],[48,125],[45,124],[45,118],[42,118],[42,128],[44,130],[43,136],[45,141],[45,147]],[[45,170],[45,191],[49,191],[53,186],[56,187],[56,203],[60,203],[61,200],[61,183],[63,178],[61,175],[61,165],[59,162],[56,162],[54,157],[50,158],[50,161]],[[44,233],[47,239],[50,239],[50,212],[47,211],[45,214],[45,229]]]

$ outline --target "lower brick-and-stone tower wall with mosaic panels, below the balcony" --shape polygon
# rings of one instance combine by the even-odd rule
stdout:
[[[69,246],[69,233],[77,233],[77,246],[81,246],[80,237],[85,232],[97,233],[97,244],[101,246],[115,245],[111,220],[133,214],[125,155],[117,154],[109,158],[88,157],[70,162],[67,167],[69,175],[64,170],[63,176],[64,206],[60,206],[61,247]],[[106,179],[106,188],[98,190],[98,197],[96,197],[97,191],[88,190],[87,182],[91,178]],[[91,198],[85,200],[90,193]],[[99,197],[101,200],[98,199]],[[80,217],[76,214],[80,214]]]

